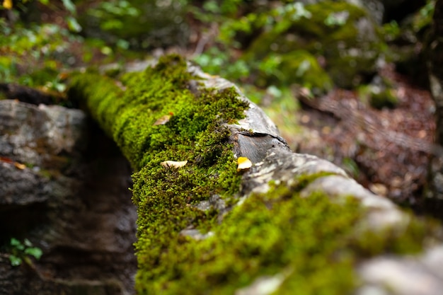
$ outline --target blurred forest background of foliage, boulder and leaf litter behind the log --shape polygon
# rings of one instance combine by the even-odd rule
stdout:
[[[0,83],[65,98],[69,71],[178,52],[236,83],[294,151],[420,212],[436,154],[426,0],[3,0]],[[1,95],[0,95],[1,96]],[[438,154],[438,153],[437,153]]]

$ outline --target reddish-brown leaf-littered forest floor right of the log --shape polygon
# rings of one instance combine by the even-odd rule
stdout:
[[[301,99],[294,117],[302,128],[282,128],[282,136],[297,152],[326,158],[372,192],[420,212],[434,152],[435,105],[429,91],[392,65],[379,74],[396,84],[396,108],[377,110],[355,91],[335,89],[313,102]],[[271,116],[284,124],[282,116]]]

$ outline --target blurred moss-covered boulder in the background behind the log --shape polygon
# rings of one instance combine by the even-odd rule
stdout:
[[[294,63],[299,59],[300,50],[306,50],[315,57],[326,59],[328,75],[321,74],[297,78],[294,66],[280,66],[281,76],[294,77],[294,83],[311,85],[313,88],[328,90],[330,79],[335,85],[352,88],[367,81],[376,71],[376,59],[386,47],[375,21],[358,6],[347,1],[318,1],[304,6],[304,17],[294,17],[294,13],[280,16],[272,27],[263,26],[263,33],[257,37],[243,57],[247,62],[280,56],[283,62],[296,54]],[[294,52],[294,53],[292,53]],[[306,54],[305,54],[306,55]],[[323,58],[322,58],[323,59]],[[318,65],[309,57],[304,57],[314,68]],[[298,69],[303,67],[298,66]],[[272,76],[271,76],[272,78]]]

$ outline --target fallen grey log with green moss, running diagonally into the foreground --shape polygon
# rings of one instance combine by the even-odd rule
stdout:
[[[341,168],[290,151],[234,84],[179,56],[118,80],[78,74],[69,96],[134,168],[138,294],[397,292],[365,265],[438,240]]]

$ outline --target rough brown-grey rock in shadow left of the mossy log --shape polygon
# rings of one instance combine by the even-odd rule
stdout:
[[[0,294],[132,294],[136,212],[115,144],[81,110],[0,100],[0,156]],[[11,266],[9,238],[42,258]]]

